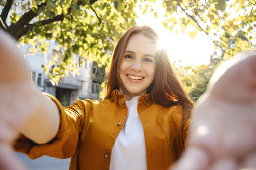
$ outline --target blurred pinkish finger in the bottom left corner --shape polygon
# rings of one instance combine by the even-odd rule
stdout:
[[[28,168],[14,156],[8,146],[0,144],[0,169],[26,170]]]

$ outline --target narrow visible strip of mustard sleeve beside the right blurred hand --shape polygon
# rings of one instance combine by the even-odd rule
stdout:
[[[186,141],[188,138],[188,134],[190,133],[190,123],[191,123],[191,111],[183,111],[183,125],[182,125],[182,136],[184,141],[184,147],[186,148]]]

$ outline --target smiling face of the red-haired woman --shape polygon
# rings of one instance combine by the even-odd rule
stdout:
[[[120,78],[131,97],[147,92],[155,76],[156,46],[142,34],[130,37],[120,63]],[[123,90],[120,89],[121,93]],[[126,100],[130,97],[125,95]]]

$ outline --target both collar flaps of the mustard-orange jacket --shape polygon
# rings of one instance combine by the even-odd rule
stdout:
[[[123,105],[122,103],[125,101],[125,96],[120,94],[120,92],[116,89],[111,92],[110,98],[120,105]],[[138,103],[143,103],[145,105],[150,105],[152,102],[150,98],[150,94],[142,94],[138,100]]]

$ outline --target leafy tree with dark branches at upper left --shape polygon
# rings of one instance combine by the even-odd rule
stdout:
[[[63,62],[50,70],[50,78],[56,82],[69,70],[79,74],[77,56],[90,58],[100,67],[106,66],[114,43],[136,24],[134,0],[6,0],[0,1],[0,6],[3,6],[0,27],[17,41],[32,44],[32,53],[38,49],[46,53],[49,47],[46,40],[50,39],[58,44],[57,50],[63,47]],[[10,22],[7,21],[9,13]],[[83,60],[80,62],[84,64]],[[42,67],[49,72],[48,65]]]

